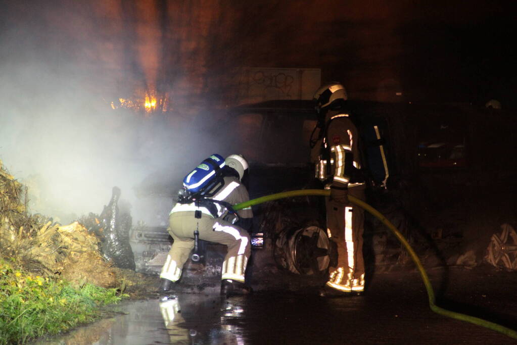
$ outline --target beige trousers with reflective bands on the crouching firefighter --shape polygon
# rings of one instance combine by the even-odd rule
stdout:
[[[177,281],[183,265],[194,248],[194,230],[199,239],[216,242],[228,247],[224,258],[221,279],[233,279],[244,283],[246,265],[251,254],[248,232],[236,225],[202,214],[195,218],[193,211],[172,213],[169,217],[169,233],[174,242],[160,273],[161,278]]]

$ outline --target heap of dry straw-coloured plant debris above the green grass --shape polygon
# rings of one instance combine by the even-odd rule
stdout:
[[[102,237],[80,222],[55,223],[27,212],[27,190],[0,161],[0,255],[28,271],[77,284],[113,288],[133,285],[134,278],[102,255]]]

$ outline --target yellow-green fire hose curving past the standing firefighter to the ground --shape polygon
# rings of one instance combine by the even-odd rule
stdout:
[[[330,191],[329,190],[310,190],[309,189],[309,190],[297,190],[297,191],[289,191],[289,192],[271,194],[271,195],[266,195],[266,196],[256,198],[253,200],[249,200],[246,202],[238,203],[233,206],[233,209],[235,211],[237,211],[237,210],[241,210],[241,209],[244,209],[244,208],[247,208],[247,207],[250,207],[253,205],[257,205],[259,203],[266,202],[266,201],[283,199],[283,198],[287,198],[287,197],[309,196],[309,195],[327,196],[328,197],[328,196],[330,196]],[[447,309],[438,307],[435,304],[436,300],[435,300],[435,296],[434,296],[434,290],[433,290],[433,287],[429,280],[429,277],[427,275],[427,272],[425,272],[425,270],[422,266],[422,263],[420,262],[420,259],[418,258],[417,254],[415,253],[413,248],[409,245],[407,240],[404,238],[404,236],[402,236],[402,233],[400,233],[400,231],[390,221],[388,221],[388,219],[381,212],[377,211],[376,209],[374,209],[373,207],[368,205],[368,203],[366,203],[362,200],[359,200],[351,195],[348,195],[348,201],[350,201],[354,205],[357,205],[360,208],[368,211],[370,214],[372,214],[377,219],[379,219],[379,221],[381,221],[384,225],[386,225],[386,227],[388,229],[390,229],[391,232],[397,237],[397,239],[404,245],[407,252],[409,253],[411,258],[415,262],[418,271],[420,272],[420,276],[425,285],[425,289],[427,290],[427,295],[428,295],[428,299],[429,299],[429,307],[431,308],[432,311],[434,311],[440,315],[447,316],[452,319],[470,322],[470,323],[476,324],[478,326],[489,328],[490,330],[493,330],[493,331],[496,331],[499,333],[503,333],[511,338],[517,339],[517,332],[514,330],[511,330],[510,328],[507,328],[505,326],[499,325],[499,324],[491,322],[491,321],[483,320],[483,319],[480,319],[477,317],[473,317],[470,315],[466,315],[463,313],[459,313],[459,312],[455,312],[455,311],[451,311],[451,310],[447,310]]]

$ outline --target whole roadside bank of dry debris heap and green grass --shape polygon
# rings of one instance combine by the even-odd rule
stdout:
[[[0,161],[0,344],[70,330],[102,317],[102,305],[145,294],[151,277],[103,258],[103,230],[90,224],[98,216],[62,225],[30,214],[27,202]]]

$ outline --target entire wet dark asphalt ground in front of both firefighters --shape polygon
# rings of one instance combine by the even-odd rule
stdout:
[[[437,304],[517,329],[517,272],[428,270]],[[114,315],[44,344],[511,344],[517,340],[429,308],[415,270],[372,274],[363,296],[312,288],[221,297],[217,287],[126,301]]]

